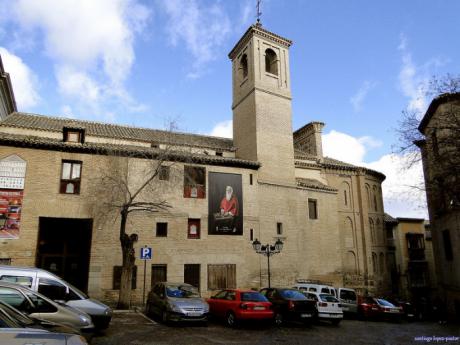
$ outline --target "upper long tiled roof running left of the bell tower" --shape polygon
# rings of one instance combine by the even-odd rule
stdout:
[[[138,140],[149,143],[173,142],[177,145],[234,151],[233,140],[198,134],[161,131],[150,128],[114,125],[27,113],[13,113],[0,126],[61,132],[63,127],[84,128],[86,135],[113,139]]]

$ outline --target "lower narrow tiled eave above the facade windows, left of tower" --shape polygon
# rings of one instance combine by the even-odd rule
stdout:
[[[26,147],[52,151],[78,152],[99,155],[116,155],[121,157],[138,157],[149,159],[163,159],[167,161],[179,161],[197,164],[209,164],[218,166],[242,167],[248,169],[258,169],[260,164],[244,159],[211,156],[205,154],[189,153],[186,151],[166,151],[159,148],[136,146],[136,145],[116,145],[106,143],[84,144],[67,143],[62,140],[35,137],[28,135],[17,135],[2,133],[0,145]]]

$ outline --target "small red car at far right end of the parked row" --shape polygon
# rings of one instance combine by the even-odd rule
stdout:
[[[361,318],[399,320],[404,311],[402,307],[395,306],[383,298],[363,297],[358,305],[358,315]]]

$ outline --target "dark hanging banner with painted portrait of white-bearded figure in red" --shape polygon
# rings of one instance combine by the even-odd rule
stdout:
[[[240,174],[209,173],[209,235],[243,234],[243,188]]]

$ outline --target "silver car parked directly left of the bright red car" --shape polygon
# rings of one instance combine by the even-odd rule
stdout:
[[[158,283],[150,291],[146,312],[157,315],[163,322],[207,322],[209,305],[197,288],[185,283]]]

